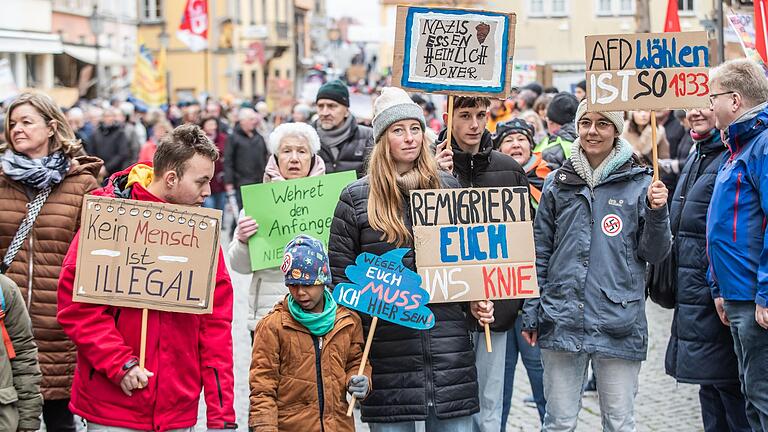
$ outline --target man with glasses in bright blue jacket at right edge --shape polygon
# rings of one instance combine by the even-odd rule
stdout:
[[[727,160],[707,217],[712,298],[729,325],[752,430],[768,430],[768,79],[750,60],[709,76],[715,126]]]

